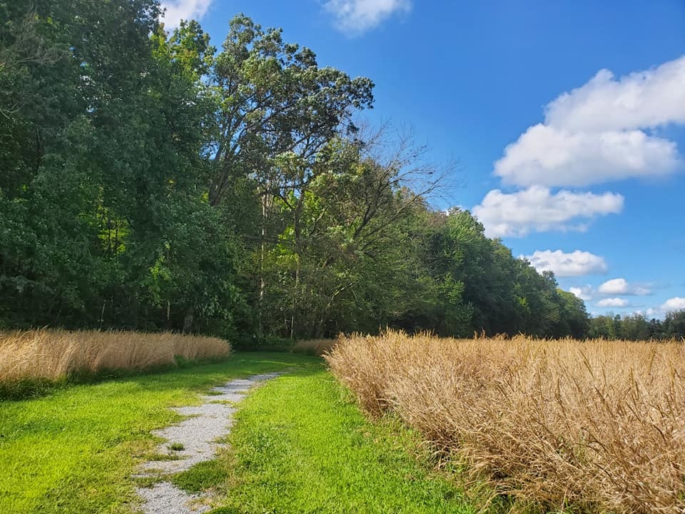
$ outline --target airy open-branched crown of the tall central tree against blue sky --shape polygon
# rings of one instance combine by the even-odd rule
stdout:
[[[220,96],[212,205],[243,174],[255,173],[264,194],[283,197],[298,188],[308,169],[284,169],[273,159],[290,153],[311,163],[341,129],[354,131],[352,111],[373,101],[369,79],[319,68],[313,51],[284,43],[280,29],[264,31],[244,15],[230,21],[211,81]]]

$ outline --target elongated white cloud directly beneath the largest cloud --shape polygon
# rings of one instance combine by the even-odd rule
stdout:
[[[623,196],[615,193],[573,193],[532,186],[516,193],[489,191],[473,208],[488,237],[526,236],[531,231],[584,231],[596,216],[619,213]],[[579,223],[577,218],[584,218]]]

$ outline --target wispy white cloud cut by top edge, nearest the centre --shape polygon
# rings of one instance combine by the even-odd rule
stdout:
[[[329,0],[326,11],[335,17],[338,29],[361,34],[379,25],[396,12],[409,12],[411,0]]]

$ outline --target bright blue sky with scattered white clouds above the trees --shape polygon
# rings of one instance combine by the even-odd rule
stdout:
[[[220,47],[240,12],[375,82],[376,126],[452,166],[439,208],[594,315],[685,309],[685,0],[165,0]]]

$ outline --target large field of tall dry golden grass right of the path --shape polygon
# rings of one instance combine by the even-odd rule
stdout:
[[[330,368],[517,508],[685,511],[683,342],[341,338]]]

